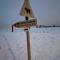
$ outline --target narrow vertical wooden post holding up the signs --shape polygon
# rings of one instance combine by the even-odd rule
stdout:
[[[26,22],[28,21],[28,17],[25,17]],[[30,36],[29,31],[27,29],[26,31],[26,37],[27,37],[27,54],[28,54],[28,60],[31,60],[31,50],[30,50]]]

